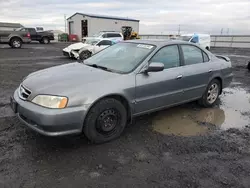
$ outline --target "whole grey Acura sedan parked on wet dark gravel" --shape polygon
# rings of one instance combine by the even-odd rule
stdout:
[[[136,116],[196,100],[212,106],[232,76],[230,59],[195,44],[133,40],[28,75],[11,106],[43,135],[83,133],[103,143]]]

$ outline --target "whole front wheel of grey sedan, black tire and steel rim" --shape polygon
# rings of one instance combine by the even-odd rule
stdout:
[[[127,124],[127,111],[113,98],[102,99],[90,109],[84,122],[85,136],[96,144],[118,138]]]

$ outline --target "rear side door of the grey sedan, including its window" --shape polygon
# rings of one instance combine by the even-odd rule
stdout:
[[[195,45],[180,45],[183,55],[182,82],[184,101],[200,98],[211,77],[211,64],[208,55]]]

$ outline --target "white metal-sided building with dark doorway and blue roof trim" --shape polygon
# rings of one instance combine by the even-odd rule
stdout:
[[[130,26],[133,31],[139,32],[140,20],[77,12],[70,16],[67,22],[69,34],[76,34],[81,40],[83,37],[93,36],[100,31],[121,32],[122,26]]]

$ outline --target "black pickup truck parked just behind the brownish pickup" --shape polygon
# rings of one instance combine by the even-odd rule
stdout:
[[[54,40],[54,34],[48,31],[37,32],[35,28],[22,27],[16,31],[26,31],[30,33],[31,40],[39,41],[41,44],[49,44],[51,40]]]

